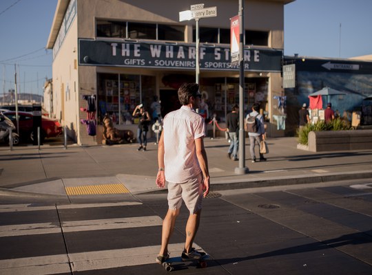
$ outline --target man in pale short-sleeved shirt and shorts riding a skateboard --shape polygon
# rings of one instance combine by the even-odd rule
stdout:
[[[184,83],[178,89],[178,99],[183,106],[167,113],[163,120],[156,185],[164,188],[165,181],[168,181],[169,208],[163,221],[161,250],[156,263],[163,263],[169,258],[168,243],[183,201],[189,210],[189,218],[181,257],[187,261],[202,256],[192,248],[200,222],[202,200],[209,192],[207,153],[203,142],[205,123],[194,111],[199,107],[200,98],[198,84]]]

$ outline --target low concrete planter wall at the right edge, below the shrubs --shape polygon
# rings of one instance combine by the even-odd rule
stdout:
[[[372,149],[372,130],[311,131],[309,151],[344,151]]]

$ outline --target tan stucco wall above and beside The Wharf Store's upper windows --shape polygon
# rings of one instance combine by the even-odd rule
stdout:
[[[206,0],[205,8],[217,7],[217,17],[200,19],[200,26],[230,28],[230,18],[238,14],[238,1]],[[194,0],[148,1],[148,0],[79,0],[79,37],[94,38],[94,18],[117,19],[152,23],[195,25],[195,21],[179,22],[178,12],[189,10]],[[283,48],[284,7],[278,1],[245,1],[245,29],[273,30],[271,47]]]

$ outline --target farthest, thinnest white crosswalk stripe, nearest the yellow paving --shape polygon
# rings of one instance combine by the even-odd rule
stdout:
[[[58,209],[75,209],[75,208],[100,208],[113,206],[139,206],[143,203],[137,201],[119,202],[119,203],[82,203],[82,204],[66,204],[57,206],[32,206],[32,204],[7,204],[0,205],[0,213],[4,212],[24,212],[24,211],[39,211],[39,210],[55,210]]]

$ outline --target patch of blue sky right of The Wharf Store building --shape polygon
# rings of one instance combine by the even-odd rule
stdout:
[[[371,11],[372,0],[296,0],[285,5],[285,55],[372,54]]]

